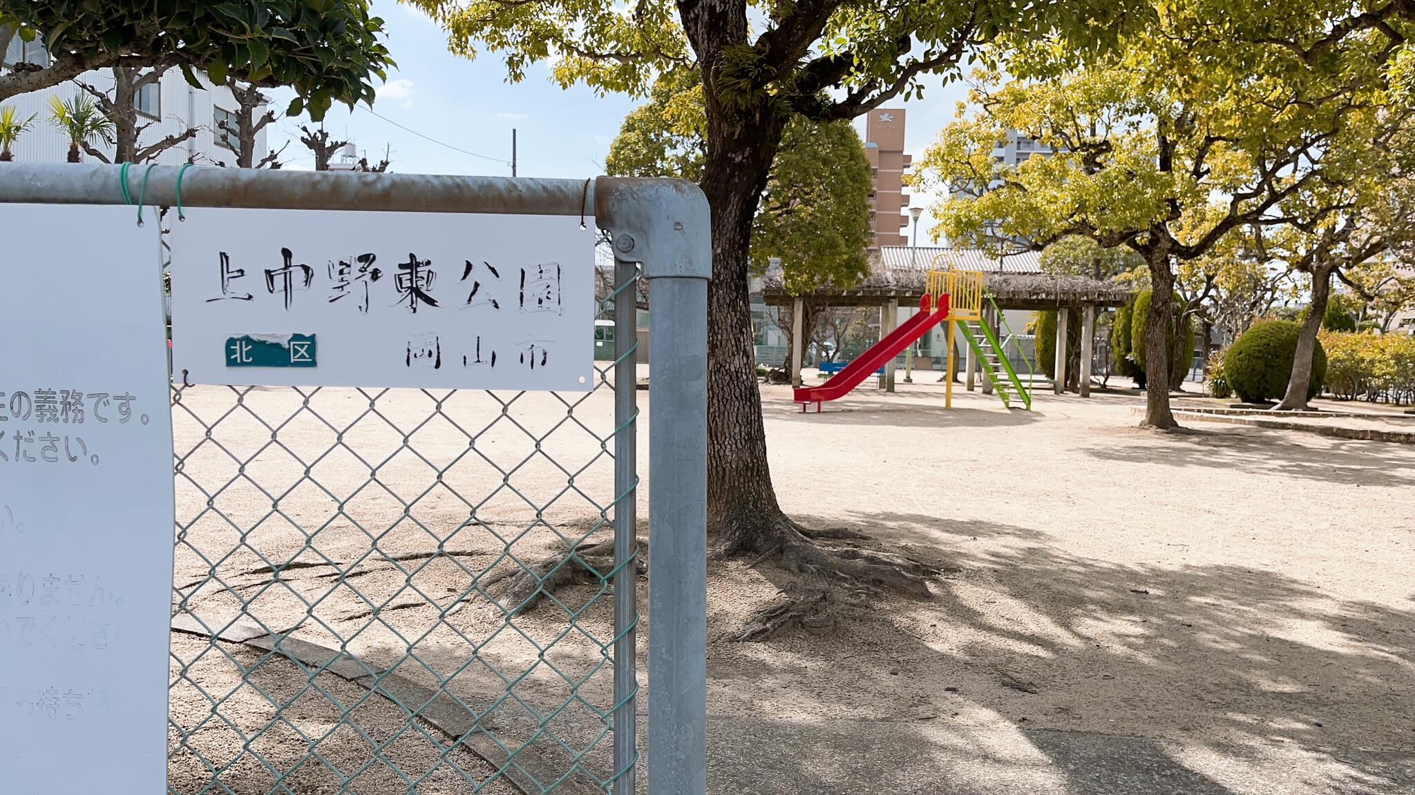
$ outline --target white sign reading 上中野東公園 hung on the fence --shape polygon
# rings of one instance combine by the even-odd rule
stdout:
[[[589,390],[594,222],[187,211],[173,372],[190,383]]]

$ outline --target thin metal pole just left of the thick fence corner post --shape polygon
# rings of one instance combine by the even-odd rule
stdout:
[[[614,263],[614,795],[634,795],[638,778],[637,283],[634,263]]]

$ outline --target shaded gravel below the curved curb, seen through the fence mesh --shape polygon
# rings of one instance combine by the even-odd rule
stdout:
[[[372,795],[412,792],[410,782],[420,792],[519,792],[504,771],[410,717],[416,706],[279,655],[204,644],[174,635],[183,672],[170,703],[171,795]]]

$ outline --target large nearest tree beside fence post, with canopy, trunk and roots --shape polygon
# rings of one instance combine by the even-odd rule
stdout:
[[[708,297],[708,519],[723,550],[780,552],[781,566],[918,590],[897,560],[829,556],[791,522],[771,488],[753,364],[747,277],[751,232],[790,122],[853,119],[918,96],[927,75],[952,75],[1000,31],[1060,30],[1098,41],[1122,8],[1102,0],[899,0],[880,6],[805,0],[409,0],[441,23],[454,52],[487,48],[512,81],[553,58],[560,85],[645,93],[657,75],[702,81],[706,151],[699,187],[712,208]],[[760,14],[758,14],[760,11]],[[753,16],[757,16],[754,20]]]

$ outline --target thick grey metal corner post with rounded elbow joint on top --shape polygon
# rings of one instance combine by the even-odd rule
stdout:
[[[614,256],[642,262],[649,327],[648,791],[705,795],[708,736],[708,199],[692,182],[600,178]]]

